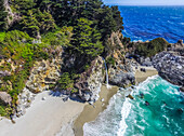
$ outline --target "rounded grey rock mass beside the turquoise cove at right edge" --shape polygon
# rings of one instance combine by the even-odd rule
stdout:
[[[184,56],[161,52],[154,57],[153,65],[161,78],[184,87]]]

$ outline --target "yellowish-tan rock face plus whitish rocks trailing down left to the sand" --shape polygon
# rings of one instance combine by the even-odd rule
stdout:
[[[50,86],[55,86],[60,76],[63,64],[62,53],[60,50],[57,56],[52,59],[36,62],[30,71],[29,79],[26,82],[26,87],[18,95],[16,113],[14,118],[25,114],[31,101],[35,99],[37,93],[49,90]]]

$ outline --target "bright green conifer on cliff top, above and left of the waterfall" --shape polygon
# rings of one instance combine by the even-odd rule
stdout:
[[[91,27],[92,22],[87,18],[77,21],[74,27],[74,40],[71,44],[81,55],[93,58],[103,52],[104,46],[100,42],[101,33]]]

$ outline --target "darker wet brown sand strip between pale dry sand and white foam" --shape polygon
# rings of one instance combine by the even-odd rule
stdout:
[[[111,89],[108,90],[106,85],[102,86],[100,99],[94,104],[94,106],[87,105],[83,108],[83,111],[74,122],[75,136],[83,136],[83,124],[87,122],[94,121],[98,113],[106,109],[109,99],[117,93],[117,91],[118,91],[117,86],[111,86]]]

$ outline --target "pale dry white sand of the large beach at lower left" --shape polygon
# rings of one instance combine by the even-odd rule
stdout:
[[[42,100],[45,97],[45,100]],[[84,104],[49,95],[43,92],[36,96],[26,114],[16,119],[0,121],[0,136],[73,136],[73,121],[83,110]]]

